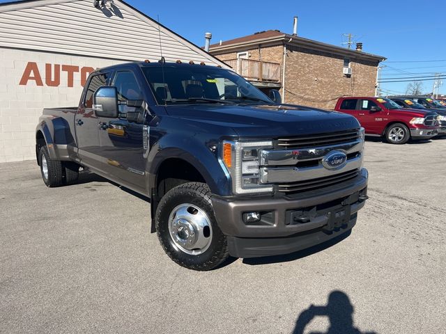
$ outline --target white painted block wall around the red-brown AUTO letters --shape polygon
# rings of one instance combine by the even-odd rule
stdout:
[[[43,86],[36,80],[20,85],[28,63],[36,63]],[[60,84],[45,83],[45,64],[105,67],[122,61],[22,51],[0,47],[0,162],[35,159],[35,129],[43,108],[77,106],[82,93],[81,74],[74,73],[73,87],[68,87],[68,73],[60,71]],[[35,73],[32,73],[34,75]],[[54,78],[54,74],[53,78]]]

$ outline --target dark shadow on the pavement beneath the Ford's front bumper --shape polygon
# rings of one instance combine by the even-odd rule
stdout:
[[[316,246],[306,248],[304,250],[299,250],[298,252],[286,254],[286,255],[275,255],[275,256],[266,256],[266,257],[252,257],[248,259],[243,259],[244,264],[250,265],[258,265],[258,264],[270,264],[270,263],[278,263],[278,262],[290,262],[294,260],[302,259],[303,257],[307,257],[309,255],[316,254],[334,246],[340,241],[346,239],[351,234],[351,230],[345,232],[344,234],[339,235],[339,237],[335,237],[329,241],[325,241],[323,244],[318,244]]]

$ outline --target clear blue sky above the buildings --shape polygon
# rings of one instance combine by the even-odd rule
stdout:
[[[383,79],[446,74],[445,0],[127,2],[150,17],[159,15],[162,24],[199,46],[207,31],[213,33],[212,42],[268,29],[292,33],[293,16],[298,15],[302,37],[341,45],[341,35],[352,33],[364,43],[364,51],[385,56]],[[381,88],[404,93],[407,84],[387,83]],[[433,81],[423,81],[424,93],[431,92],[432,85]],[[446,94],[446,79],[440,93]]]

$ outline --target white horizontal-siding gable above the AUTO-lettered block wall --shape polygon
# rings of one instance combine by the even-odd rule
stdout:
[[[185,19],[193,24],[192,18]],[[118,0],[112,8],[102,10],[93,7],[92,0],[24,1],[0,6],[0,47],[158,61],[160,40],[166,61],[225,66],[162,26],[159,32],[157,22]]]

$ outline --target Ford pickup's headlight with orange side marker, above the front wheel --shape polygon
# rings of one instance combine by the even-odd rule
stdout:
[[[272,141],[224,141],[222,161],[232,179],[234,193],[270,193],[272,186],[260,182],[259,151]]]

